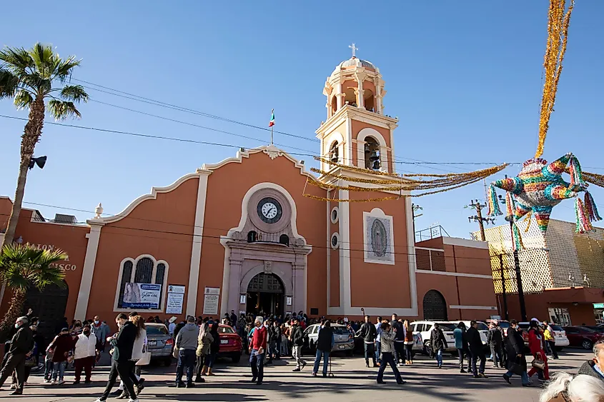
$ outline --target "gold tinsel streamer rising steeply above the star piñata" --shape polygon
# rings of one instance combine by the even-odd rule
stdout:
[[[535,158],[543,155],[543,144],[545,144],[545,136],[548,135],[550,115],[553,111],[556,91],[558,90],[558,81],[562,73],[562,62],[568,41],[570,14],[573,12],[573,7],[575,6],[575,1],[570,0],[570,6],[565,14],[565,3],[565,0],[550,0],[548,44],[543,58],[545,83],[543,85],[539,118],[539,144],[535,152]]]

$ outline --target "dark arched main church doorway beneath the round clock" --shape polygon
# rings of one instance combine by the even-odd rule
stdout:
[[[247,285],[247,313],[283,315],[284,286],[274,273],[258,273]]]

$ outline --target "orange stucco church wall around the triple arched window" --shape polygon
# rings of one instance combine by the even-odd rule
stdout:
[[[102,316],[113,324],[119,268],[124,258],[150,254],[168,264],[167,283],[189,291],[192,234],[197,204],[197,177],[157,199],[143,201],[126,218],[101,230],[86,317]],[[166,297],[162,289],[162,299]],[[184,295],[187,300],[187,293]],[[184,307],[183,307],[184,313]],[[164,318],[164,313],[149,313]]]

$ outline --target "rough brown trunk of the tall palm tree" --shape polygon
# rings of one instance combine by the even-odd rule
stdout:
[[[31,161],[31,157],[34,156],[34,149],[36,143],[40,140],[43,126],[44,98],[39,96],[36,97],[29,107],[29,120],[27,121],[24,133],[21,136],[21,164],[19,164],[19,178],[16,182],[13,208],[11,209],[11,217],[9,218],[9,225],[6,228],[6,233],[4,234],[4,243],[2,246],[13,242],[16,224],[19,222],[19,215],[21,214],[23,196],[25,194],[25,182],[27,179],[27,171],[29,170],[29,161]]]

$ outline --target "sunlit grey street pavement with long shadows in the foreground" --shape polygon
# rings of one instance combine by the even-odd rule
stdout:
[[[590,351],[566,348],[560,353],[560,360],[550,360],[550,373],[568,371],[576,373],[583,361],[591,358]],[[216,376],[205,377],[206,383],[196,388],[175,388],[174,372],[176,366],[149,366],[143,371],[146,378],[145,389],[139,396],[141,401],[502,401],[511,396],[515,402],[537,401],[539,386],[536,376],[534,388],[520,386],[520,378],[512,379],[512,386],[502,380],[502,369],[491,368],[487,362],[486,374],[489,378],[475,379],[469,374],[459,373],[457,359],[445,357],[442,369],[436,368],[436,362],[427,356],[416,356],[413,366],[400,368],[407,383],[397,385],[392,371],[385,371],[385,384],[375,382],[377,368],[366,368],[362,356],[345,358],[335,356],[332,359],[334,377],[312,377],[312,359],[305,356],[308,365],[300,373],[293,373],[292,360],[282,359],[264,370],[264,383],[256,386],[250,382],[251,373],[247,366],[247,355],[233,365],[224,359],[215,366]],[[94,401],[102,393],[107,381],[109,368],[102,366],[93,371],[93,383],[90,386],[71,385],[73,371],[65,374],[67,381],[63,386],[50,386],[41,383],[41,373],[32,373],[24,395],[19,399],[38,402]],[[9,380],[10,381],[10,380]],[[2,388],[0,398],[9,398],[8,383]],[[114,401],[110,398],[108,401]]]

